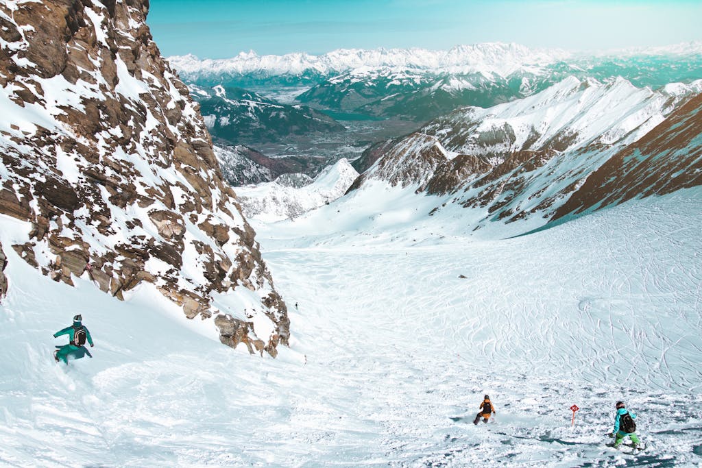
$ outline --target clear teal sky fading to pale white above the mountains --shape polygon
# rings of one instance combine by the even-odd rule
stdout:
[[[229,58],[517,42],[602,50],[702,41],[702,1],[151,0],[161,53]]]

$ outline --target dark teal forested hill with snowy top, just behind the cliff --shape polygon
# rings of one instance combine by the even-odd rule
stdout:
[[[260,144],[291,135],[343,131],[331,117],[303,105],[281,104],[242,88],[190,85],[213,138],[230,145]]]

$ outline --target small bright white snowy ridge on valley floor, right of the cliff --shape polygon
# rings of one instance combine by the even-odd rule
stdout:
[[[309,184],[300,187],[299,180],[291,181],[292,174],[255,187],[238,187],[237,195],[247,218],[265,222],[296,218],[342,196],[358,173],[342,158],[327,167]],[[304,174],[300,174],[305,178]]]

